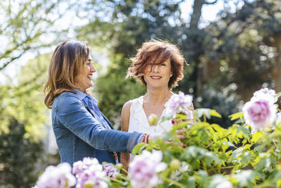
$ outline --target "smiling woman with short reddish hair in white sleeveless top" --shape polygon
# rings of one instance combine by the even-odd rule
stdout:
[[[127,101],[122,108],[121,130],[126,132],[146,132],[150,135],[171,130],[166,120],[161,125],[150,126],[148,117],[154,113],[157,118],[166,114],[165,104],[173,94],[171,88],[183,79],[185,60],[178,48],[166,42],[152,39],[143,43],[134,58],[131,58],[128,76],[141,81],[146,89],[145,96]],[[128,169],[129,153],[121,153],[121,163]]]

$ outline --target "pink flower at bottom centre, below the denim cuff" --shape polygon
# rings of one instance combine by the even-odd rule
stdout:
[[[162,163],[161,151],[143,151],[141,155],[135,156],[129,164],[129,178],[134,188],[154,187],[158,184],[157,173],[166,168]]]

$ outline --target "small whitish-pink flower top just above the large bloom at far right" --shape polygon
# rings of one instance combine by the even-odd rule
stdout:
[[[275,104],[277,102],[277,94],[273,89],[268,89],[266,87],[254,92],[254,96],[251,98],[251,100],[254,101],[259,101],[261,99],[268,101],[270,104]]]

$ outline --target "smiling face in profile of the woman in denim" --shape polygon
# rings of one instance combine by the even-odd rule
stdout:
[[[76,79],[75,86],[77,86],[81,92],[93,86],[93,73],[96,72],[96,68],[93,66],[92,61],[93,58],[89,55],[88,61],[84,63],[83,70]]]

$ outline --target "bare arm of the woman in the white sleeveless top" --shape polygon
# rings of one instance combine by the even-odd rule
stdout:
[[[121,130],[124,132],[128,132],[129,130],[129,120],[130,120],[130,108],[131,101],[128,101],[124,104],[121,113]],[[128,170],[130,163],[130,154],[129,153],[121,153],[120,157],[121,163],[124,165],[124,168]]]

